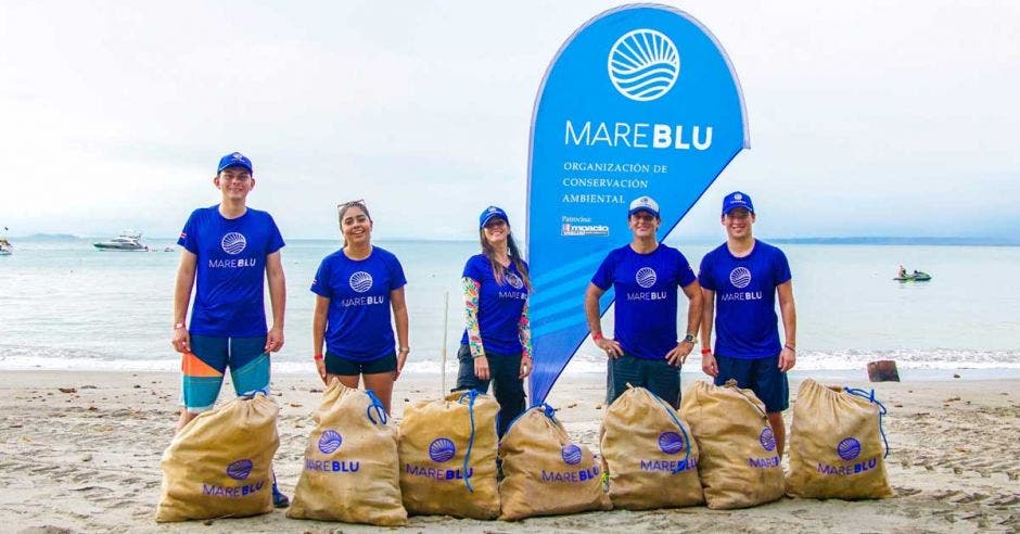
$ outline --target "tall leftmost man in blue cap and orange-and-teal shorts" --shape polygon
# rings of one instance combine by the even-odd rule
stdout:
[[[247,207],[255,188],[252,162],[240,152],[219,161],[213,183],[220,202],[192,212],[180,232],[170,344],[182,354],[181,410],[177,429],[216,403],[224,374],[238,395],[269,394],[269,353],[283,347],[286,287],[272,217]],[[269,279],[272,328],[266,328],[264,283]],[[188,303],[195,289],[191,323]],[[288,498],[272,484],[273,504]]]

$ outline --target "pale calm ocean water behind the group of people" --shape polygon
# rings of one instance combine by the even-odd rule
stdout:
[[[0,256],[0,369],[176,370],[169,345],[179,253],[101,252],[95,240],[12,240]],[[459,278],[473,242],[392,241],[408,278],[412,353],[407,372],[437,372],[444,342],[456,367],[462,331]],[[692,265],[718,243],[671,243]],[[311,373],[308,291],[319,260],[337,241],[291,240],[283,249],[288,306],[285,346],[275,372]],[[895,359],[906,373],[974,369],[1020,374],[1020,263],[1016,246],[781,245],[793,271],[800,372],[862,370]],[[933,275],[893,281],[896,267]],[[582,306],[583,295],[577,295]],[[681,303],[685,302],[680,298]],[[268,298],[267,298],[268,305]],[[448,322],[444,328],[444,314]],[[679,321],[686,322],[681,304]],[[603,318],[609,329],[612,312]],[[680,327],[683,330],[683,327]],[[590,342],[566,372],[604,370]],[[999,371],[1000,370],[1000,371]],[[697,351],[685,371],[700,372]]]

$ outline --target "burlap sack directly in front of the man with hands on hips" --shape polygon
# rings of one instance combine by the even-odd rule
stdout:
[[[702,505],[698,445],[676,410],[645,387],[610,405],[599,430],[613,508]]]

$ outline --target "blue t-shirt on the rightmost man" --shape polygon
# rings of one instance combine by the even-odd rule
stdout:
[[[706,254],[698,280],[715,291],[715,353],[743,359],[779,354],[776,287],[791,278],[786,254],[758,240],[744,257],[726,243]]]

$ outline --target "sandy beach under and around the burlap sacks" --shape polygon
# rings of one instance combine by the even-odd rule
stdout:
[[[692,381],[685,376],[685,387]],[[4,532],[361,532],[364,525],[267,516],[156,524],[160,458],[177,419],[179,377],[156,372],[4,371],[0,385],[0,530]],[[405,376],[394,393],[436,397],[439,377]],[[798,383],[791,384],[795,391]],[[846,385],[870,387],[865,382]],[[881,501],[783,498],[744,510],[705,507],[609,511],[519,523],[412,517],[416,532],[740,531],[972,532],[1020,530],[1020,381],[875,384],[889,408],[890,482]],[[550,404],[578,442],[598,449],[604,379],[565,377]],[[276,470],[284,493],[297,482],[314,377],[273,380],[281,407]],[[225,398],[232,397],[225,385]],[[787,412],[787,424],[792,411]]]

